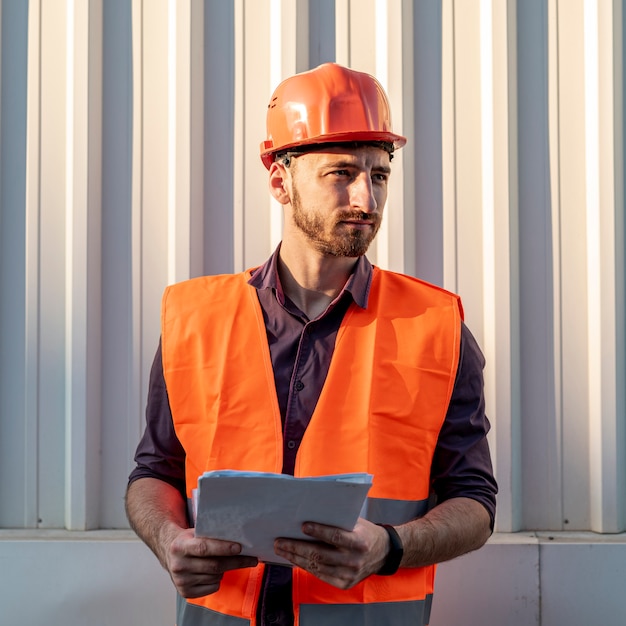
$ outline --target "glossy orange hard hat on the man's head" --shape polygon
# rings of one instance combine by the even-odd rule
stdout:
[[[324,63],[284,80],[267,107],[261,160],[269,169],[279,152],[311,144],[384,142],[401,148],[391,130],[389,101],[370,74]]]

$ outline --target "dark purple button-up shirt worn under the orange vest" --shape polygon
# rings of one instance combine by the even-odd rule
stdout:
[[[277,258],[278,250],[254,272],[250,284],[257,289],[263,310],[274,370],[283,423],[283,473],[293,474],[296,453],[324,385],[343,316],[352,302],[367,307],[372,266],[360,257],[339,296],[322,315],[309,320],[283,293]],[[493,527],[497,486],[486,439],[489,421],[484,411],[483,367],[483,355],[463,324],[459,367],[435,450],[431,480],[437,501],[458,496],[473,498],[485,506]],[[174,432],[160,346],[150,373],[146,430],[135,461],[137,466],[129,482],[141,477],[159,478],[185,494],[185,452]],[[259,623],[293,624],[289,568],[266,567]]]

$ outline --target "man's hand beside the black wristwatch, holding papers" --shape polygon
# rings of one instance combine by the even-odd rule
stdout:
[[[353,531],[312,522],[302,530],[316,541],[279,538],[274,551],[339,589],[350,589],[375,574],[389,552],[387,531],[362,518]]]

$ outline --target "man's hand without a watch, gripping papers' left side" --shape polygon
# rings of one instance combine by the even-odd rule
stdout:
[[[183,598],[199,598],[220,588],[224,572],[257,565],[256,557],[240,552],[238,543],[195,537],[186,528],[169,543],[165,566]]]

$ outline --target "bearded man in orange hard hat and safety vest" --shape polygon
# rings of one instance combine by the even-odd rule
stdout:
[[[364,256],[406,142],[380,84],[332,63],[297,74],[267,132],[282,242],[260,268],[166,290],[128,517],[178,626],[427,624],[434,564],[493,528],[483,357],[456,296]],[[219,468],[374,481],[353,531],[277,538],[288,568],[194,536],[185,500]]]

